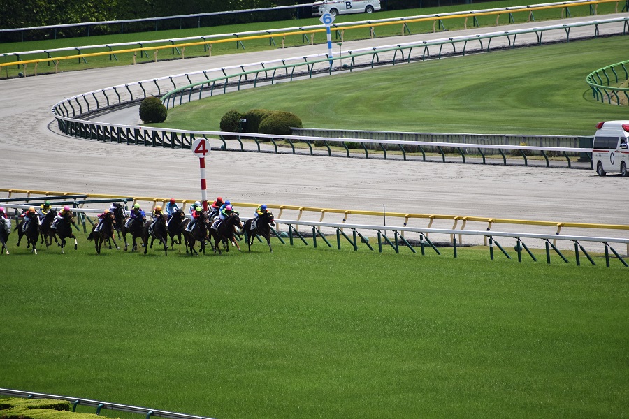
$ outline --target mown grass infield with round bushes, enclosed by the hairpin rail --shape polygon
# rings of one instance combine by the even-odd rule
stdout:
[[[585,82],[619,61],[623,43],[577,41],[257,87],[175,107],[154,126],[219,131],[228,110],[265,108],[294,112],[310,128],[593,135],[600,121],[627,119],[626,107],[593,101]]]

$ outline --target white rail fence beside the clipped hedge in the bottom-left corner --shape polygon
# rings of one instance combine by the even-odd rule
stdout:
[[[117,404],[109,402],[99,402],[91,399],[80,399],[78,397],[67,397],[59,395],[48,395],[45,393],[28,392],[20,390],[11,390],[9,388],[0,388],[0,395],[12,396],[12,397],[25,397],[27,399],[56,399],[66,400],[72,403],[72,411],[76,410],[76,406],[89,406],[96,408],[96,415],[101,414],[101,409],[110,409],[115,411],[122,411],[127,413],[138,413],[145,415],[146,419],[150,419],[151,416],[157,416],[159,418],[167,419],[210,419],[205,416],[193,416],[185,413],[176,413],[169,411],[161,411],[157,409],[148,409],[146,407],[129,406],[127,404]]]

